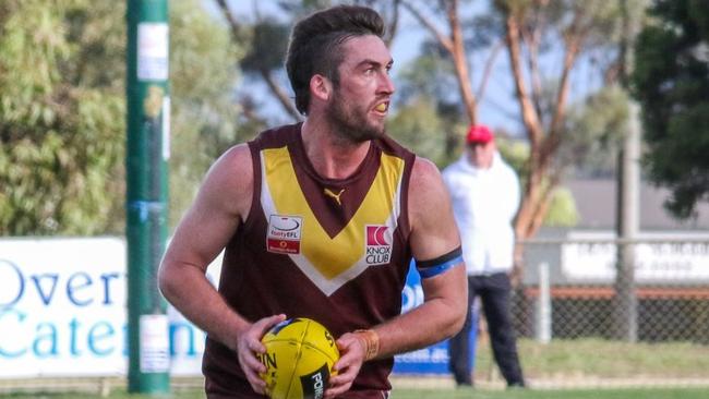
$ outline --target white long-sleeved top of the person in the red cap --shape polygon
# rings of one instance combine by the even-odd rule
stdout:
[[[495,152],[492,166],[480,169],[467,154],[443,170],[462,242],[468,275],[508,273],[513,267],[519,207],[517,173]]]

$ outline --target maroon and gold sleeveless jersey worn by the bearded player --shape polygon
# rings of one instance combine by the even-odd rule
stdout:
[[[310,164],[300,129],[269,130],[249,143],[254,196],[227,244],[219,292],[252,322],[285,313],[339,337],[400,313],[414,155],[383,137],[350,178],[325,179]],[[393,359],[364,363],[346,397],[388,390],[392,365]],[[203,371],[211,397],[259,397],[237,354],[209,338]]]

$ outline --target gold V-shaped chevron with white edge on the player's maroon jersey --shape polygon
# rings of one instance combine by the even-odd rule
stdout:
[[[372,244],[368,232],[376,231],[376,244],[389,245],[390,251],[401,210],[404,159],[382,153],[380,169],[362,203],[333,238],[321,226],[298,183],[288,147],[261,150],[261,206],[266,219],[299,218],[302,223],[298,253],[283,256],[289,256],[326,295],[373,264],[371,257],[368,263]]]

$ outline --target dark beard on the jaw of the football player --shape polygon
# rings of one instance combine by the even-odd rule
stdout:
[[[335,96],[341,98],[337,92]],[[358,144],[385,134],[384,125],[375,125],[368,120],[366,110],[347,107],[344,100],[335,99],[327,109],[326,118],[333,132],[350,143]]]

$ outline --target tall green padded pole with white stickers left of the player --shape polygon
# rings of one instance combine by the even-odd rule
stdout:
[[[157,268],[167,238],[169,158],[168,0],[129,0],[128,390],[167,394],[169,334]]]

